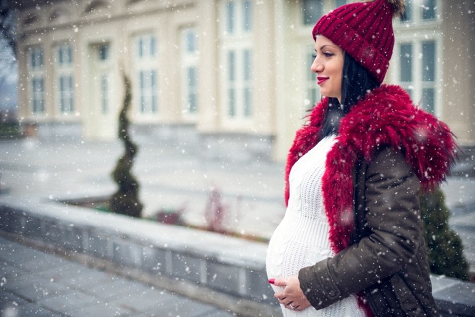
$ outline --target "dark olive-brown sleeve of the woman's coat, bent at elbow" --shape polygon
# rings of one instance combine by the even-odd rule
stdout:
[[[299,271],[300,287],[316,309],[362,291],[405,268],[422,234],[419,179],[401,153],[389,148],[368,165],[366,222],[370,234],[348,248]]]

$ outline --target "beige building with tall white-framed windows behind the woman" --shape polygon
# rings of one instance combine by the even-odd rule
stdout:
[[[131,79],[136,136],[209,158],[284,160],[320,98],[311,29],[346,0],[20,0],[19,113],[111,140]],[[406,0],[386,82],[475,144],[474,1]]]

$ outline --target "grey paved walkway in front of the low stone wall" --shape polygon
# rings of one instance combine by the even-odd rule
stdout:
[[[212,305],[0,237],[2,317],[232,317]]]

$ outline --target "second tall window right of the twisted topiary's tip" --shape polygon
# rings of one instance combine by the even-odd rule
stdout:
[[[182,109],[185,114],[198,111],[198,35],[195,28],[182,31]]]

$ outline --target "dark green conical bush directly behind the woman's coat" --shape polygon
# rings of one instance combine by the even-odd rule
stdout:
[[[442,190],[423,193],[420,200],[430,271],[467,280],[469,265],[460,237],[448,225],[450,212]]]

